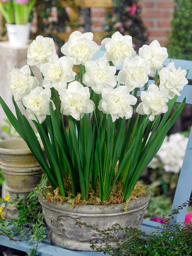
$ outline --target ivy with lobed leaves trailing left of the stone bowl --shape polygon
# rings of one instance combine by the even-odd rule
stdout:
[[[45,184],[41,182],[38,184],[40,189],[41,185],[45,187]],[[18,209],[18,217],[15,220],[3,220],[0,218],[0,235],[6,235],[10,240],[20,241],[23,238],[28,239],[28,244],[31,241],[36,242],[36,246],[30,249],[29,256],[35,256],[35,250],[41,239],[45,238],[44,226],[44,213],[42,212],[41,205],[38,201],[38,194],[33,196],[31,191],[28,197],[19,198],[17,195],[10,197],[9,200],[0,200],[0,207],[4,203],[5,209],[9,204],[12,204]]]

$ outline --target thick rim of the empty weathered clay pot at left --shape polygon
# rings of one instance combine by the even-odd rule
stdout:
[[[18,140],[18,144],[15,145],[15,148],[11,148],[13,142]],[[39,140],[41,149],[44,150],[42,142]],[[4,144],[8,143],[9,146],[5,146]],[[21,144],[22,143],[22,144]],[[22,146],[23,145],[23,146]],[[13,138],[13,139],[4,139],[0,141],[0,154],[7,155],[26,155],[32,154],[30,149],[28,148],[26,142],[22,138]]]

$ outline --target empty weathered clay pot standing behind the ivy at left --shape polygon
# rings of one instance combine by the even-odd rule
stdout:
[[[41,180],[42,170],[22,138],[0,141],[0,169],[10,197],[26,196]],[[11,205],[7,211],[2,211],[7,219],[15,219],[17,215],[17,209]]]

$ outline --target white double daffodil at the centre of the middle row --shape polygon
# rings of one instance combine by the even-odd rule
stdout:
[[[110,66],[104,58],[96,61],[85,62],[86,73],[83,75],[83,83],[91,87],[97,94],[100,94],[104,87],[115,87],[116,67]]]

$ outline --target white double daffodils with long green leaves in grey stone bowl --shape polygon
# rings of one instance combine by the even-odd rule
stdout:
[[[131,36],[116,32],[102,41],[104,58],[96,61],[92,57],[99,46],[92,40],[91,32],[73,32],[61,48],[65,56],[58,58],[53,39],[37,36],[28,48],[27,63],[40,69],[43,88],[32,82],[33,74],[26,65],[8,76],[17,118],[0,97],[7,117],[49,181],[39,194],[50,228],[49,239],[78,250],[90,250],[91,241],[103,241],[99,232],[84,229],[79,221],[97,224],[100,230],[141,225],[150,192],[136,183],[181,113],[185,100],[170,116],[179,91],[187,83],[186,70],[176,70],[173,62],[163,68],[167,49],[156,40],[143,45],[140,56],[135,57]],[[114,88],[115,66],[122,63],[117,77],[120,86]],[[79,77],[72,71],[73,64],[80,65]],[[157,70],[161,70],[160,80]],[[149,76],[156,84],[147,88]],[[133,123],[137,90],[143,86],[142,102],[136,108],[138,115]],[[33,120],[48,163],[16,101],[22,101]],[[69,120],[68,128],[64,115]],[[134,187],[135,200],[130,200]],[[72,205],[77,207],[71,209]],[[120,231],[114,235],[119,239],[125,234]]]

